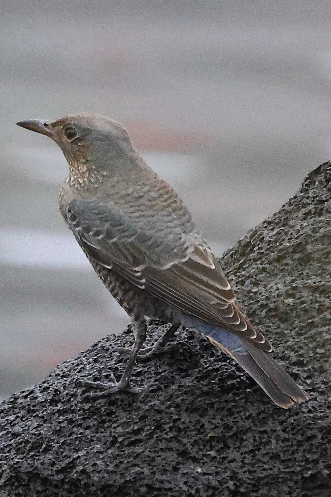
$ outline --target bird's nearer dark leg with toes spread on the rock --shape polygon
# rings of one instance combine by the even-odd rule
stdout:
[[[100,399],[101,397],[108,397],[115,392],[119,392],[120,390],[124,390],[126,392],[132,393],[140,393],[141,389],[136,387],[131,387],[130,385],[130,376],[132,373],[132,369],[134,363],[136,361],[136,357],[138,351],[146,338],[146,322],[145,320],[133,321],[132,323],[133,332],[135,335],[135,343],[133,349],[131,350],[127,365],[125,367],[124,373],[119,382],[117,382],[112,375],[112,382],[110,383],[102,383],[100,381],[87,381],[82,380],[81,385],[93,389],[101,390],[101,392],[94,392],[90,394],[85,394],[83,397],[87,399]]]

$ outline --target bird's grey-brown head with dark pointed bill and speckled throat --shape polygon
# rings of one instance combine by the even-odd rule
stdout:
[[[106,176],[121,175],[130,167],[135,149],[125,128],[109,117],[83,112],[56,121],[16,123],[52,138],[69,165],[69,180],[77,188],[97,185]]]

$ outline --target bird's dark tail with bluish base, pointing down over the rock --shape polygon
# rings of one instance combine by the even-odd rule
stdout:
[[[288,409],[294,403],[301,404],[309,399],[308,394],[277,364],[270,353],[257,348],[249,339],[221,328],[213,328],[205,336],[233,357],[277,406]]]

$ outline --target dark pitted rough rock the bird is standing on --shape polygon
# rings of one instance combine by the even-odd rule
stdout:
[[[132,344],[128,329],[3,402],[0,496],[330,496],[330,250],[325,163],[222,260],[307,404],[275,407],[193,331],[137,366],[134,383],[157,382],[145,395],[82,403],[79,378],[122,372],[111,349]],[[151,325],[148,344],[162,329]]]

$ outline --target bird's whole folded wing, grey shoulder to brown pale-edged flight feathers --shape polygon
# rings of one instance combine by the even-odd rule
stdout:
[[[240,311],[221,266],[190,218],[166,212],[135,217],[97,201],[73,199],[67,222],[86,254],[182,312],[270,343]]]

